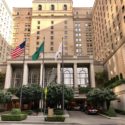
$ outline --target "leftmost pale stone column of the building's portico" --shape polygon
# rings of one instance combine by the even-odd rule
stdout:
[[[11,79],[12,79],[12,67],[11,64],[7,64],[7,70],[6,70],[6,78],[5,78],[5,89],[8,89],[11,87]]]

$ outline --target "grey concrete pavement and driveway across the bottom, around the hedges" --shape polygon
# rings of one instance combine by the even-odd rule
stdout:
[[[28,116],[26,120],[23,121],[0,121],[0,125],[125,125],[125,116],[120,116],[112,119],[105,118],[100,115],[86,115],[80,111],[69,111],[70,117],[66,118],[64,123],[61,122],[45,122],[44,116],[40,114],[39,116]]]

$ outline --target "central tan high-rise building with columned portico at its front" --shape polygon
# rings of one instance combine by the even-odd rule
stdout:
[[[18,87],[22,83],[42,84],[42,81],[44,86],[53,82],[61,84],[62,68],[67,86],[75,89],[79,85],[95,87],[92,8],[73,8],[72,4],[72,0],[33,0],[32,8],[14,8],[14,25],[19,25],[14,32],[13,43],[16,45],[22,42],[28,34],[28,55],[25,62],[23,56],[8,60],[5,89]],[[43,41],[44,64],[42,57],[31,60],[32,54]],[[55,60],[62,42],[63,63],[61,58]]]

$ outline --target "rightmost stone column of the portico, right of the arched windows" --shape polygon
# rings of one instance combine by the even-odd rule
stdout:
[[[91,87],[95,88],[95,71],[94,71],[94,64],[90,64],[90,82],[91,82]]]

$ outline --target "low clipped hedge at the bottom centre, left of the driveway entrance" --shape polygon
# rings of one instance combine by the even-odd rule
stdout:
[[[65,117],[63,117],[63,116],[45,117],[45,121],[64,122],[65,121]]]

